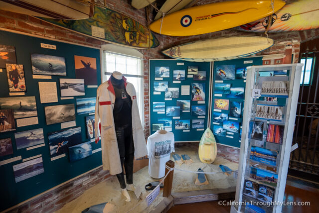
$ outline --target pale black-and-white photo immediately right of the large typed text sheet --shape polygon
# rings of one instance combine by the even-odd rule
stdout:
[[[85,96],[83,79],[60,79],[61,97]]]

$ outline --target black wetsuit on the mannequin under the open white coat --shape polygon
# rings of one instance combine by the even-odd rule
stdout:
[[[118,80],[111,76],[111,83],[115,92],[115,103],[113,108],[113,117],[118,140],[121,165],[125,168],[126,182],[133,184],[133,160],[134,160],[134,142],[132,131],[132,100],[126,92],[124,80]],[[125,189],[124,173],[116,175],[121,188]]]

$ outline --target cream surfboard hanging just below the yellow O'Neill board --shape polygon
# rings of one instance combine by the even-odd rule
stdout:
[[[162,51],[185,61],[222,61],[255,54],[271,47],[274,40],[259,36],[230,36],[194,41]]]

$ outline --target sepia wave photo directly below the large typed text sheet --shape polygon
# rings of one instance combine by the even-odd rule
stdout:
[[[46,125],[75,120],[74,104],[44,106]]]

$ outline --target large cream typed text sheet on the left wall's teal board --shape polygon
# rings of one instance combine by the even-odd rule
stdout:
[[[38,84],[41,104],[58,102],[56,82],[38,82]]]

